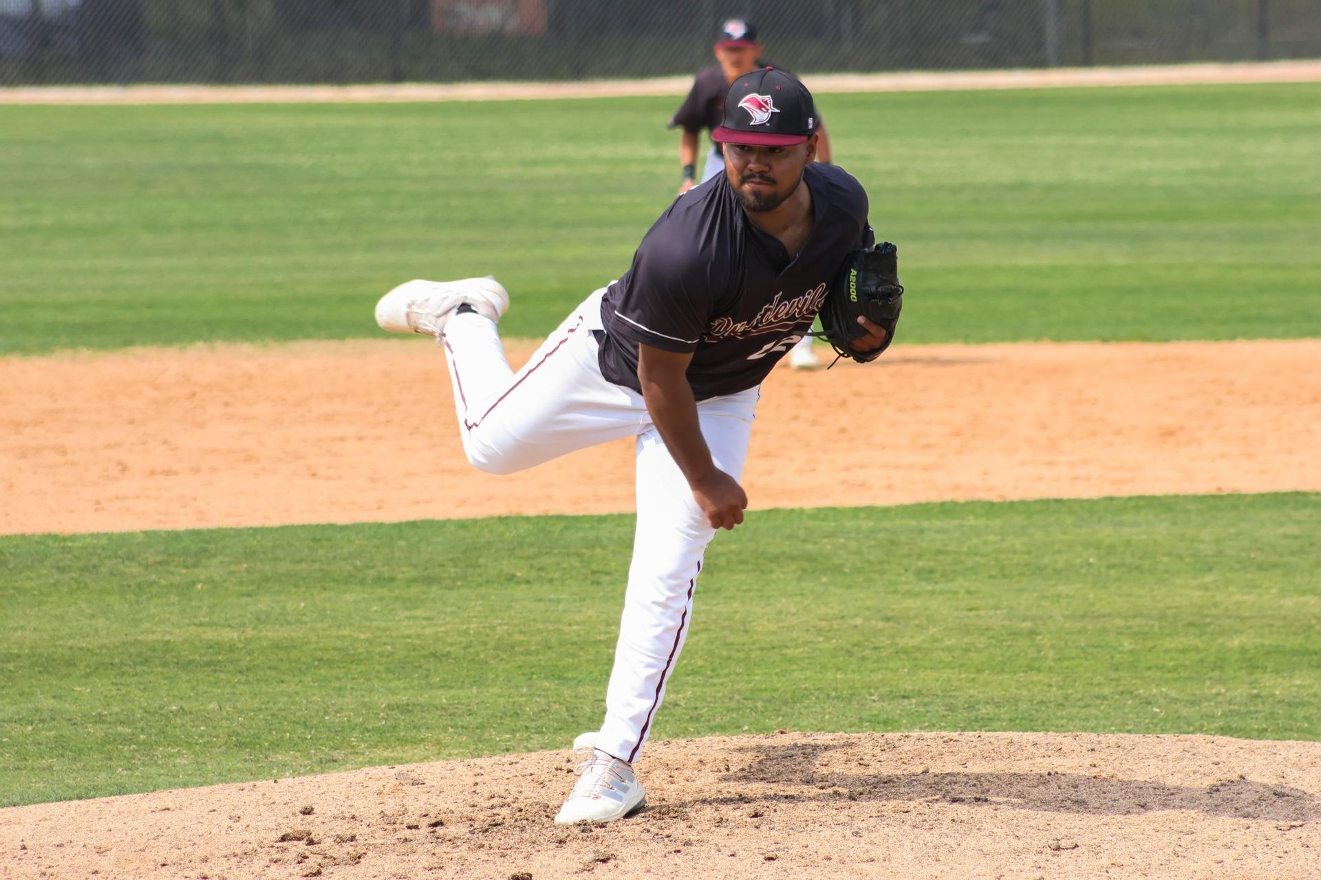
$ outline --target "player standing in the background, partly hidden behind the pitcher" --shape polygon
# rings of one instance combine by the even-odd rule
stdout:
[[[709,181],[716,174],[725,170],[721,144],[713,136],[711,149],[703,160],[701,181],[697,179],[697,152],[703,129],[712,133],[720,125],[725,111],[725,92],[738,77],[744,77],[760,67],[774,67],[782,70],[779,65],[764,62],[761,58],[762,46],[757,37],[757,25],[745,18],[729,18],[720,26],[716,37],[715,53],[716,63],[703,67],[694,77],[692,87],[687,98],[670,117],[670,128],[682,128],[679,133],[679,165],[682,166],[682,179],[679,194],[687,193],[699,182]],[[830,135],[822,121],[818,125],[816,161],[831,161]],[[793,347],[789,363],[799,369],[818,367],[816,354],[812,351],[812,338],[803,336]]]

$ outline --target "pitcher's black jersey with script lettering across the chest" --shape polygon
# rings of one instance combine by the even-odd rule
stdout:
[[[844,256],[873,243],[861,183],[820,164],[803,183],[814,223],[795,259],[748,219],[723,174],[675,199],[601,299],[601,375],[641,392],[645,343],[694,352],[697,400],[761,384],[811,327]]]

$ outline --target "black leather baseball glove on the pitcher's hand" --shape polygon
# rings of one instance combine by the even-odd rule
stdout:
[[[871,251],[853,251],[844,257],[830,296],[822,306],[820,335],[840,358],[859,363],[876,360],[894,340],[894,327],[904,306],[904,285],[898,276],[898,248],[889,241]],[[863,315],[885,327],[885,342],[875,351],[856,352],[848,347],[852,340],[865,336],[867,330],[857,323]]]

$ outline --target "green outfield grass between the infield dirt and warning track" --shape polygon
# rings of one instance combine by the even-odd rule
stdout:
[[[538,336],[676,185],[675,99],[0,108],[0,354],[375,336],[495,273]],[[1321,84],[824,95],[905,340],[1321,334]]]

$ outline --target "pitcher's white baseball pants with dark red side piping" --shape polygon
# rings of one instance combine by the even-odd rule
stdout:
[[[494,322],[449,318],[443,344],[468,459],[513,474],[573,450],[637,437],[638,521],[620,620],[605,723],[596,747],[633,761],[642,751],[683,649],[701,557],[715,536],[670,456],[642,394],[606,381],[592,330],[601,327],[597,290],[514,373]],[[742,475],[760,389],[697,404],[716,467]]]

